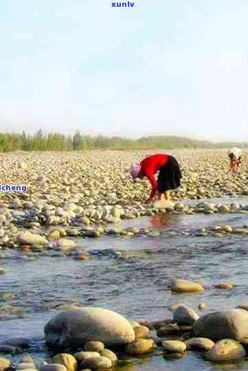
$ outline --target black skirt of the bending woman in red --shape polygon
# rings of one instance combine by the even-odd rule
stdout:
[[[169,157],[168,163],[159,169],[159,177],[157,178],[157,190],[159,193],[174,190],[181,186],[179,164],[173,156]]]

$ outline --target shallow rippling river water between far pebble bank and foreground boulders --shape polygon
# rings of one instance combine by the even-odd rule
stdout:
[[[170,306],[182,302],[199,313],[200,302],[207,309],[234,308],[247,301],[248,236],[172,236],[168,231],[195,230],[216,224],[243,226],[244,214],[157,214],[122,222],[128,225],[159,229],[162,236],[133,238],[104,236],[99,239],[76,238],[78,250],[87,250],[91,258],[74,260],[67,256],[45,256],[5,251],[2,267],[8,273],[0,276],[0,293],[15,293],[16,298],[3,304],[21,306],[22,314],[1,315],[0,339],[26,336],[35,339],[34,358],[46,359],[45,323],[58,311],[55,306],[77,302],[84,306],[100,306],[122,313],[128,319],[164,319],[172,316]],[[117,258],[115,251],[122,251]],[[168,285],[172,278],[187,278],[203,284],[198,294],[172,294]],[[214,288],[219,282],[236,284],[231,291]],[[117,368],[124,371],[145,370],[247,370],[248,361],[238,365],[215,366],[196,352],[183,359],[162,356],[144,358],[132,365]]]

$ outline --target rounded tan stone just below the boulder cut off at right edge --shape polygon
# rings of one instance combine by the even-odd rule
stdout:
[[[214,344],[206,357],[216,363],[240,361],[245,358],[245,348],[238,341],[223,339]]]

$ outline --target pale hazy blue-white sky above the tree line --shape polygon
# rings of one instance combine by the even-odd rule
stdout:
[[[0,131],[248,140],[248,1],[5,0]]]

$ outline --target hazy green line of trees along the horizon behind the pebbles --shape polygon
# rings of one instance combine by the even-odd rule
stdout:
[[[0,133],[0,152],[11,152],[14,150],[44,151],[44,150],[91,150],[91,149],[113,149],[113,150],[155,150],[173,148],[227,148],[239,146],[247,148],[244,143],[217,143],[205,140],[189,139],[170,135],[149,135],[139,139],[126,137],[106,137],[104,135],[91,136],[82,135],[76,131],[74,135],[63,135],[60,133],[43,133],[37,131],[33,135],[23,133]]]

